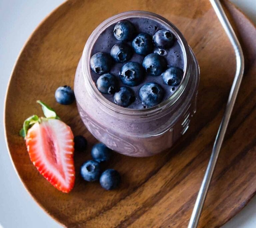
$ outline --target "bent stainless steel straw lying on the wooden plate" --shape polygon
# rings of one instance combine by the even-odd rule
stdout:
[[[226,106],[226,110],[224,112],[222,121],[220,123],[219,126],[219,130],[217,132],[216,138],[215,138],[215,142],[213,145],[213,149],[212,149],[212,154],[204,175],[204,179],[202,181],[202,185],[200,187],[200,190],[198,192],[198,196],[195,202],[195,206],[193,208],[193,212],[188,224],[188,228],[195,228],[198,225],[198,221],[201,215],[201,211],[204,205],[204,201],[205,201],[205,197],[211,182],[211,178],[212,178],[212,174],[216,165],[216,161],[218,159],[219,156],[219,152],[220,152],[220,148],[223,142],[223,138],[225,136],[226,133],[226,129],[228,126],[228,122],[230,119],[230,115],[232,113],[233,107],[234,107],[234,103],[237,97],[237,93],[243,78],[243,73],[244,73],[244,56],[243,56],[243,51],[241,48],[241,45],[236,37],[236,34],[234,33],[234,30],[230,24],[230,22],[228,21],[228,18],[221,6],[221,3],[219,0],[210,0],[213,9],[215,10],[217,17],[220,20],[220,23],[222,24],[225,32],[227,33],[227,36],[234,48],[235,51],[235,55],[236,55],[236,74],[235,74],[235,78],[229,93],[229,97],[228,97],[228,103]]]

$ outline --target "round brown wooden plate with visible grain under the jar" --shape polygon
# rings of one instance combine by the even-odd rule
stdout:
[[[199,227],[219,227],[238,213],[256,191],[256,29],[224,1],[236,26],[247,68],[232,114]],[[156,156],[115,154],[108,167],[122,174],[118,190],[79,176],[96,142],[84,127],[76,105],[61,106],[54,92],[73,86],[77,63],[92,30],[104,19],[127,10],[146,10],[172,21],[194,50],[201,69],[197,113],[176,145]],[[235,56],[207,0],[67,1],[32,34],[23,48],[6,95],[5,131],[14,166],[33,198],[67,227],[186,227],[211,153],[235,73]],[[51,186],[29,160],[18,135],[23,120],[42,114],[40,99],[55,109],[74,134],[89,141],[75,153],[76,182],[69,194]]]

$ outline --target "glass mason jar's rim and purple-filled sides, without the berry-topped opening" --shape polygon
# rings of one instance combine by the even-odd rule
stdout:
[[[175,35],[184,54],[184,75],[176,91],[147,109],[120,107],[102,96],[90,75],[90,57],[100,31],[130,17],[146,17],[164,24]],[[167,19],[145,11],[120,13],[102,22],[88,38],[78,64],[74,91],[87,129],[109,148],[129,156],[151,156],[167,149],[188,129],[196,111],[199,66],[181,32]]]

